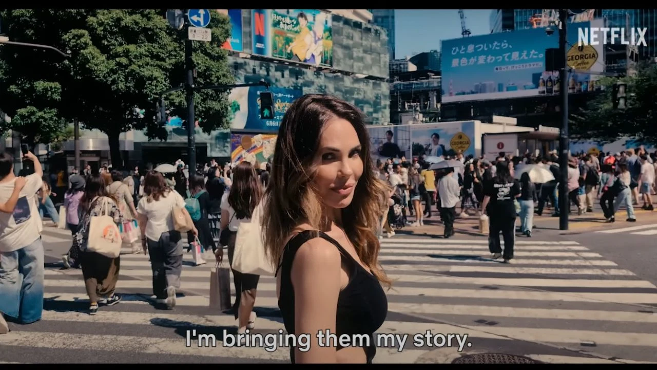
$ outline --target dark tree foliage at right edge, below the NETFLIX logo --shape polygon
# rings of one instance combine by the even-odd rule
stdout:
[[[614,109],[612,95],[617,82],[627,84],[627,109]],[[657,66],[640,65],[635,76],[602,78],[600,83],[605,86],[604,92],[570,115],[571,136],[600,142],[628,136],[657,144]]]

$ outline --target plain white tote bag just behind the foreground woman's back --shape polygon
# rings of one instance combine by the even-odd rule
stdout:
[[[254,209],[250,222],[240,223],[235,238],[235,251],[231,268],[243,274],[273,276],[274,269],[265,255],[265,244],[260,228],[263,201]]]

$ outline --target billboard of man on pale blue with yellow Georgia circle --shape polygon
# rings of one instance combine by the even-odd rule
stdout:
[[[474,121],[415,124],[411,143],[414,157],[474,156]]]

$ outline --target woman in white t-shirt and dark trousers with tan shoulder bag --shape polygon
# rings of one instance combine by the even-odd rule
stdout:
[[[141,246],[148,250],[153,271],[153,294],[157,308],[175,307],[177,288],[183,271],[183,244],[175,230],[175,207],[185,209],[185,199],[170,188],[160,172],[149,171],[144,179],[144,198],[137,206],[137,222],[141,229]],[[188,213],[189,215],[189,213]],[[198,230],[192,229],[194,236]]]

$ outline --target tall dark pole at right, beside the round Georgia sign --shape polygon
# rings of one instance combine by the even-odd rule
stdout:
[[[568,151],[570,142],[568,141],[568,53],[566,27],[568,21],[568,9],[559,9],[559,55],[563,58],[560,65],[559,90],[561,95],[561,130],[559,130],[559,169],[561,178],[559,181],[559,229],[568,230],[568,211],[570,210],[570,199],[568,199]]]

